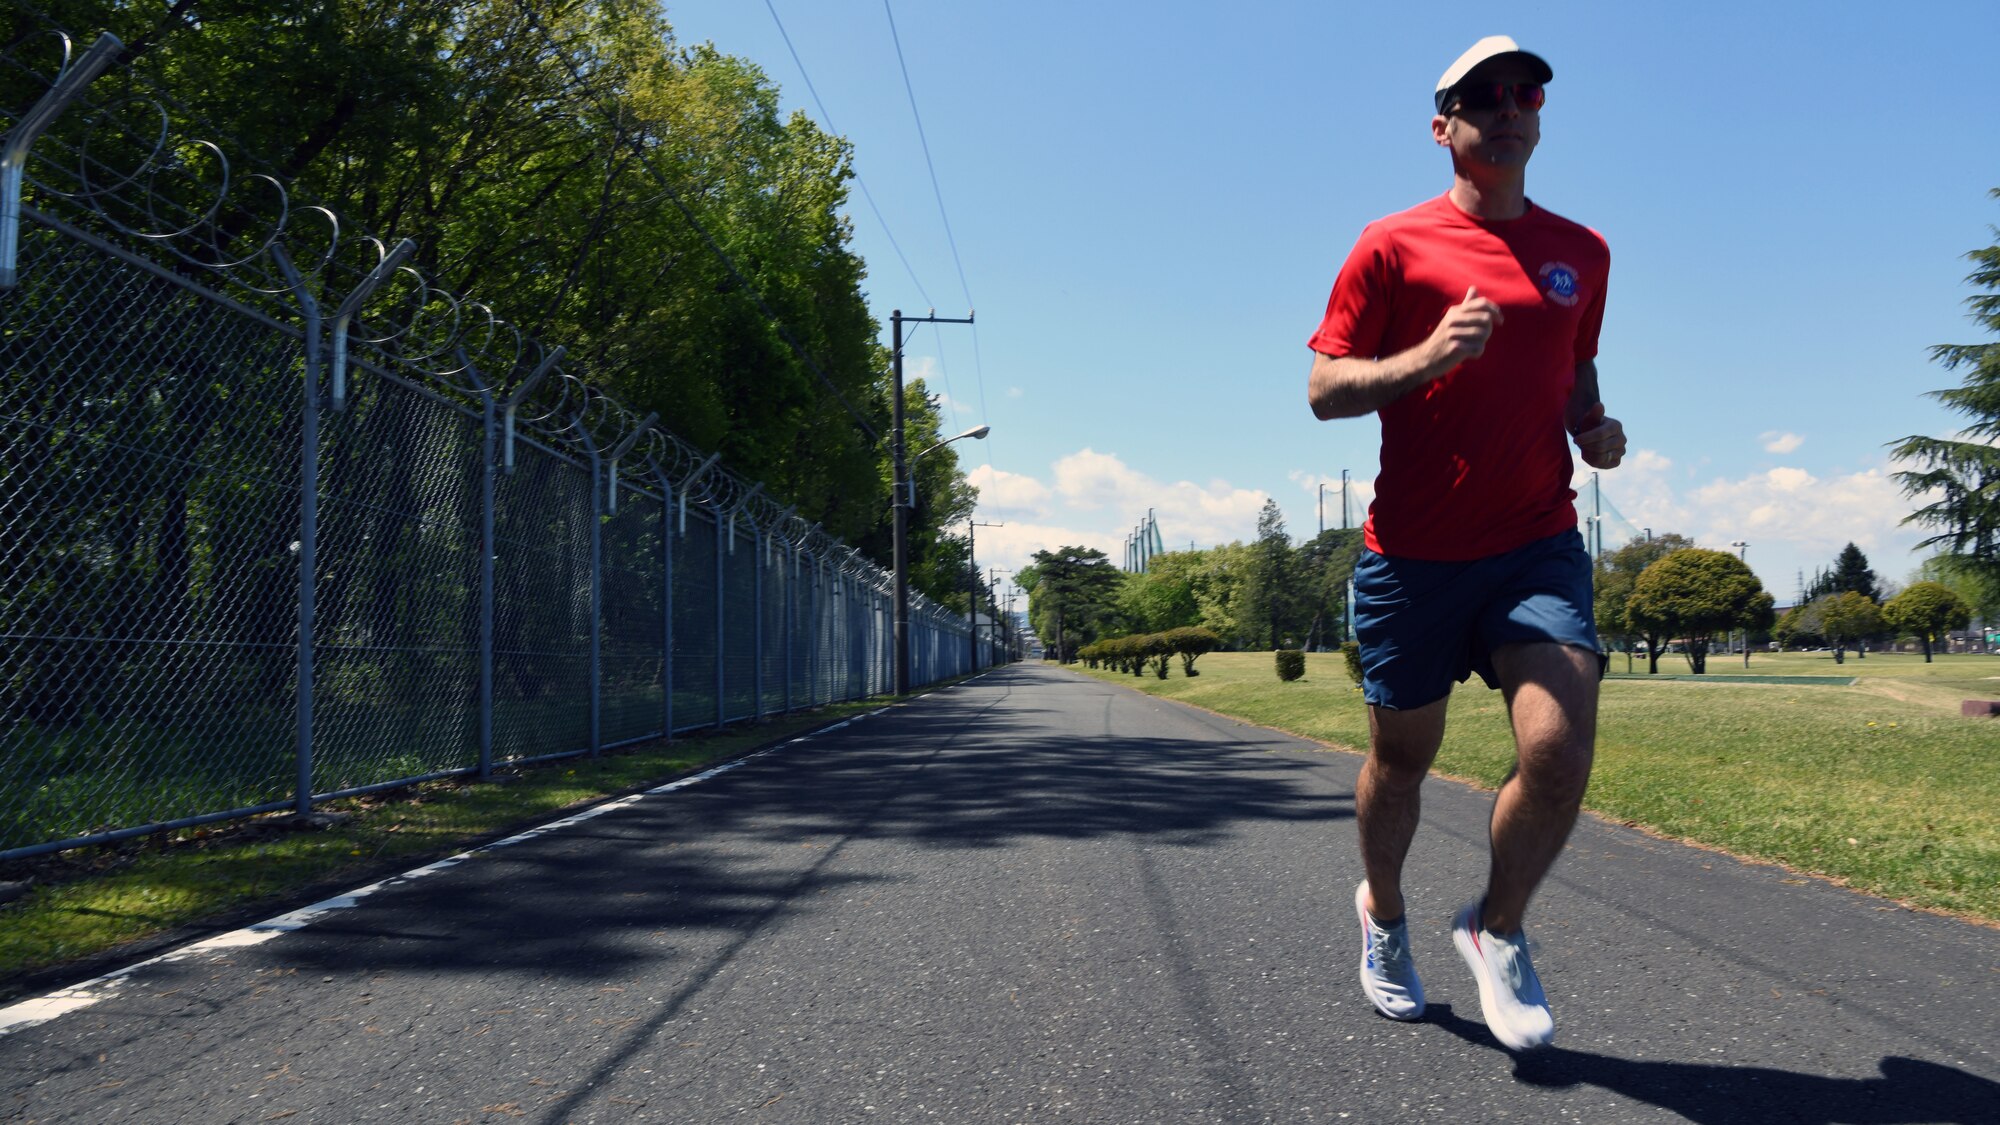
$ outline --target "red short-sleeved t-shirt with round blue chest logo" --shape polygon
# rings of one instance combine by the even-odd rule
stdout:
[[[1370,222],[1340,266],[1308,344],[1384,358],[1430,336],[1466,286],[1506,320],[1486,352],[1382,406],[1382,472],[1368,548],[1466,560],[1576,526],[1562,412],[1576,364],[1598,354],[1610,248],[1532,202],[1490,222],[1438,196]]]

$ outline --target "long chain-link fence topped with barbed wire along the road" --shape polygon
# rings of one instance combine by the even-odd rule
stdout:
[[[92,76],[0,56],[0,859],[888,691],[890,575]]]

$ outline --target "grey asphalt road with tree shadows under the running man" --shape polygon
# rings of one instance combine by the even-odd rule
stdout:
[[[1490,795],[1442,781],[1430,1015],[1376,1017],[1358,765],[1002,669],[144,967],[0,1035],[0,1115],[2000,1123],[2000,931],[1590,819],[1530,915],[1558,1045],[1508,1055],[1446,933]]]

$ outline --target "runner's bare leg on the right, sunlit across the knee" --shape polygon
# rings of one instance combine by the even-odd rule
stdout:
[[[1506,645],[1494,651],[1494,671],[1514,721],[1514,773],[1494,801],[1480,925],[1514,933],[1584,803],[1598,737],[1598,655],[1554,643]]]

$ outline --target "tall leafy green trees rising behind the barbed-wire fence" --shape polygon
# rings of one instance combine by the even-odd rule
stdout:
[[[306,242],[306,202],[336,210],[354,246],[358,232],[414,238],[436,284],[564,344],[572,370],[888,565],[888,448],[848,414],[886,434],[892,406],[844,214],[852,150],[786,116],[752,62],[680,44],[658,6],[610,0],[36,6],[80,46],[98,32],[126,42],[92,98],[164,88],[188,106],[170,108],[176,142],[216,140],[240,184],[292,184]],[[24,58],[46,46],[52,70],[56,40],[40,30],[26,6],[0,16],[0,42]],[[36,92],[0,74],[0,106],[20,112]],[[60,118],[46,144],[74,142],[82,120]],[[216,226],[226,240],[252,220]],[[910,398],[922,448],[936,408],[920,384]],[[952,448],[916,476],[912,585],[964,605],[964,546],[944,528],[972,492]]]

